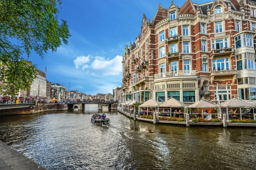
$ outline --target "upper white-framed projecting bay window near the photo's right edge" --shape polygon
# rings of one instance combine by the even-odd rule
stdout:
[[[251,46],[253,47],[253,37],[251,34],[243,33],[235,37],[235,44],[236,48],[244,47],[244,46]]]

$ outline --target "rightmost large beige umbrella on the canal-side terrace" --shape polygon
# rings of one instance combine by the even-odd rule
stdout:
[[[255,107],[254,104],[248,103],[244,100],[238,99],[238,98],[233,98],[230,100],[227,100],[223,103],[220,104],[221,107],[226,107],[227,108],[227,114],[228,114],[228,108],[240,108],[240,118],[242,120],[242,107]],[[227,116],[228,117],[228,116]]]

